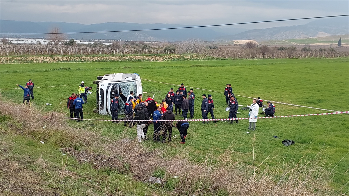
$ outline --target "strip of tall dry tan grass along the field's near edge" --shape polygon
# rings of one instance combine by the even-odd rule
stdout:
[[[79,162],[91,163],[96,169],[109,167],[120,172],[129,170],[139,180],[147,180],[157,174],[161,179],[163,191],[173,195],[333,194],[333,190],[328,186],[331,175],[325,163],[320,161],[322,152],[312,159],[304,156],[298,162],[280,163],[280,167],[269,167],[271,160],[266,159],[259,165],[242,170],[242,165],[232,161],[231,155],[235,152],[229,149],[214,162],[208,154],[205,160],[196,163],[190,161],[184,152],[172,158],[165,158],[163,151],[146,149],[136,140],[110,141],[97,132],[70,128],[60,113],[50,112],[42,115],[35,108],[0,100],[0,114],[9,115],[18,123],[22,123],[22,128],[17,128],[17,132],[57,145],[63,148],[63,151],[69,151]],[[96,154],[96,149],[103,149],[104,155]],[[36,164],[44,169],[46,162],[37,160]],[[61,172],[51,174],[52,178],[72,176],[73,174],[65,172],[65,166],[62,162]]]

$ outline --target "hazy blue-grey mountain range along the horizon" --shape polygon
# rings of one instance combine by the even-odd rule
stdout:
[[[0,20],[0,33],[47,33],[58,26],[61,32],[120,31],[139,29],[161,29],[186,27],[178,24],[138,24],[107,22],[99,24],[79,24],[65,22],[27,22]],[[181,41],[190,38],[205,41],[213,40],[280,40],[340,35],[349,33],[349,18],[337,17],[321,19],[305,25],[281,26],[268,29],[240,29],[230,26],[219,28],[191,28],[157,31],[108,32],[66,34],[67,39],[106,39],[106,40],[143,40],[143,41]],[[0,35],[1,37],[45,38],[45,35]]]

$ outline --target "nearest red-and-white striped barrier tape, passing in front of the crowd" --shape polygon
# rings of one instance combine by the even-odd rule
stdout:
[[[302,115],[290,115],[290,116],[269,116],[269,117],[257,117],[257,119],[263,118],[283,118],[283,117],[298,117],[298,116],[319,116],[319,115],[331,115],[331,114],[342,114],[349,113],[349,111],[344,112],[331,112],[331,113],[314,113],[314,114],[302,114]],[[73,119],[73,120],[97,120],[97,121],[147,121],[147,120],[133,120],[133,119],[123,119],[123,120],[104,120],[104,119],[80,119],[80,118],[68,118],[64,119]],[[158,121],[221,121],[221,120],[247,120],[250,118],[216,118],[216,119],[187,119],[187,120],[158,120]]]

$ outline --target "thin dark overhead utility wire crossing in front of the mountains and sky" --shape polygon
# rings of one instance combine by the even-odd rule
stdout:
[[[232,24],[216,24],[216,25],[205,25],[205,26],[186,26],[186,27],[162,28],[162,29],[140,29],[140,30],[122,30],[122,31],[91,31],[91,32],[68,32],[68,33],[0,33],[0,34],[38,35],[38,34],[74,34],[74,33],[109,33],[109,32],[130,32],[130,31],[155,31],[155,30],[190,29],[190,28],[211,27],[211,26],[227,26],[227,25],[267,23],[267,22],[280,22],[280,21],[296,21],[296,20],[304,20],[304,19],[331,18],[331,17],[340,17],[340,16],[349,16],[349,14],[346,14],[346,15],[336,15],[336,16],[319,16],[319,17],[309,17],[309,18],[282,19],[282,20],[273,20],[273,21],[258,21],[258,22],[232,23]]]

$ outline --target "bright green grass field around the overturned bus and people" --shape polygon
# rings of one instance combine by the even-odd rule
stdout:
[[[35,100],[32,103],[38,109],[65,112],[68,116],[67,97],[73,92],[77,93],[80,81],[85,81],[86,86],[92,86],[92,92],[95,92],[96,85],[92,85],[92,81],[96,80],[97,76],[120,72],[138,73],[143,79],[171,84],[184,83],[185,86],[220,92],[224,91],[225,84],[231,83],[233,92],[237,95],[259,96],[261,99],[337,111],[349,110],[348,58],[2,64],[0,80],[1,88],[16,88],[16,84],[24,85],[29,79],[32,79],[35,87],[58,86],[35,88]],[[155,94],[156,101],[161,101],[171,87],[178,88],[146,80],[142,81],[142,86],[143,92]],[[212,94],[216,108],[215,117],[228,118],[229,113],[225,112],[223,93],[202,90],[194,90],[194,93],[196,95],[195,118],[201,119],[200,106],[203,93]],[[1,94],[5,100],[22,102],[22,89],[1,90]],[[95,93],[88,96],[89,103],[84,105],[85,118],[111,119],[109,116],[93,113],[96,107],[95,97]],[[252,103],[251,99],[244,97],[237,96],[237,99],[240,105]],[[52,105],[46,106],[45,103]],[[326,112],[283,104],[275,105],[276,116]],[[238,118],[248,117],[248,111],[239,110],[239,112],[241,113],[238,114]],[[181,117],[176,116],[176,119]],[[69,121],[72,127],[87,126],[90,123],[84,121],[77,124]],[[121,123],[117,125],[102,121],[92,123],[95,124],[96,131],[111,139],[117,139],[124,131]],[[142,145],[152,149],[165,149],[169,157],[184,150],[189,152],[191,159],[197,162],[204,159],[208,152],[212,157],[218,157],[225,149],[230,148],[235,151],[232,159],[244,166],[249,166],[253,162],[253,138],[255,137],[256,162],[261,163],[267,160],[270,166],[277,167],[283,160],[296,163],[303,156],[311,159],[321,152],[324,153],[323,161],[326,161],[328,171],[333,170],[331,187],[340,193],[349,190],[347,183],[349,181],[349,115],[259,119],[256,131],[247,130],[247,127],[248,120],[240,120],[239,124],[220,121],[217,126],[212,122],[205,125],[201,122],[192,122],[184,145],[178,143],[180,139],[176,130],[173,134],[177,135],[177,138],[170,143],[147,141]],[[151,133],[152,128],[153,126],[149,127],[148,133]],[[246,133],[247,131],[251,134]],[[279,138],[275,139],[273,135]],[[125,136],[135,138],[135,128],[128,128]],[[281,143],[284,139],[294,140],[296,143],[290,147],[284,147]],[[115,178],[122,178],[122,176]]]

